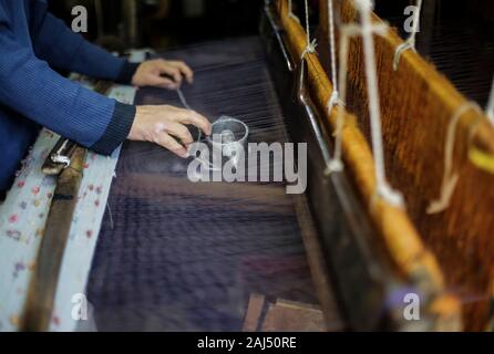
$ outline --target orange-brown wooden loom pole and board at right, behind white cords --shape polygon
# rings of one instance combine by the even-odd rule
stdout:
[[[305,30],[288,15],[287,1],[277,1],[276,9],[291,54],[300,58],[307,43]],[[323,48],[328,43],[327,1],[320,1],[319,13],[319,48]],[[343,22],[358,22],[351,0],[341,2],[340,17]],[[374,21],[380,20],[374,15]],[[402,43],[394,32],[375,37],[375,41],[388,175],[391,185],[404,194],[406,210],[373,199],[375,178],[360,39],[351,41],[349,55],[347,110],[356,116],[347,113],[342,132],[347,174],[400,273],[431,294],[426,311],[438,316],[436,330],[444,330],[444,323],[450,330],[485,329],[494,289],[494,241],[490,238],[494,177],[474,166],[469,155],[480,150],[492,156],[494,129],[473,111],[462,115],[454,154],[454,168],[461,173],[459,185],[446,211],[428,215],[430,201],[440,194],[446,127],[466,100],[414,52],[405,52],[394,72],[394,50]],[[326,128],[332,132],[337,110],[328,114],[326,108],[332,93],[329,75],[316,54],[308,54],[306,62],[311,97]]]

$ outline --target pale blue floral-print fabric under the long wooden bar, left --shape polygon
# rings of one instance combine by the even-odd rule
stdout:
[[[114,86],[110,96],[134,102],[135,88]],[[41,166],[59,139],[43,129],[0,205],[0,331],[16,331],[55,188]],[[120,148],[111,157],[89,153],[56,289],[51,331],[73,331],[74,294],[84,293]]]

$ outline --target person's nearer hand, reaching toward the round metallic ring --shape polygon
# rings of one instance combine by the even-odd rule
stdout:
[[[188,145],[194,143],[186,125],[194,125],[210,135],[212,125],[200,114],[168,105],[137,106],[128,139],[161,145],[179,157],[188,157]]]

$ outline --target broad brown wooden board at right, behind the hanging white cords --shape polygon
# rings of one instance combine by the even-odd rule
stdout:
[[[351,0],[335,3],[339,4],[343,23],[359,21]],[[319,13],[320,31],[327,38],[326,0],[320,1]],[[373,20],[381,22],[375,14]],[[414,227],[441,266],[446,290],[461,299],[465,329],[482,330],[488,322],[494,289],[494,176],[475,166],[469,159],[469,152],[476,148],[494,156],[494,128],[485,116],[473,110],[462,116],[454,156],[460,181],[447,210],[428,215],[429,204],[440,196],[449,123],[467,101],[413,51],[402,55],[394,72],[394,51],[403,43],[395,31],[374,39],[388,178],[403,192]],[[327,43],[319,45],[328,46]],[[363,60],[362,42],[353,39],[349,52],[347,108],[356,114],[364,139],[370,142]],[[397,221],[389,222],[397,225]],[[395,237],[403,236],[403,230],[395,229]],[[390,248],[390,251],[395,250]]]

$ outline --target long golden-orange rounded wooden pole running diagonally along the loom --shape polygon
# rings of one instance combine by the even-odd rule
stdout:
[[[299,22],[288,17],[286,0],[278,0],[276,7],[294,58],[301,58],[307,44],[306,32]],[[331,114],[327,112],[327,102],[332,93],[332,85],[317,54],[306,55],[306,61],[312,100],[327,123],[326,128],[335,131],[337,112],[336,110]],[[429,310],[435,312],[440,319],[457,319],[459,302],[454,296],[443,295],[442,272],[434,256],[424,246],[406,211],[374,198],[377,183],[372,153],[366,136],[356,124],[358,118],[353,115],[346,113],[346,125],[342,131],[343,158],[347,173],[353,179],[375,228],[382,236],[381,241],[399,271],[406,279],[434,294],[435,301]],[[460,326],[460,321],[452,323],[455,329]]]

